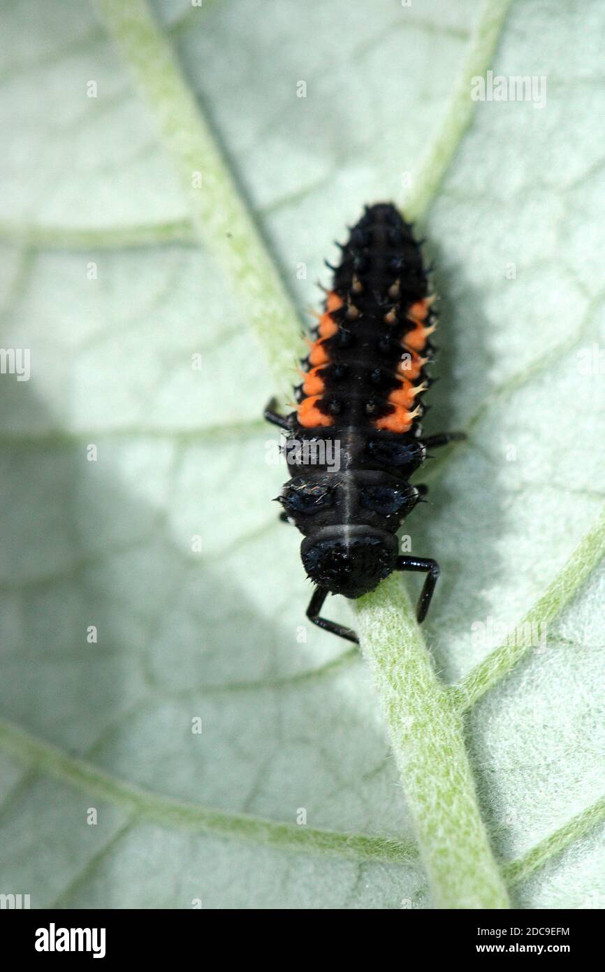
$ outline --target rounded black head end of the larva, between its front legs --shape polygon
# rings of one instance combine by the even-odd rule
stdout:
[[[397,538],[367,526],[325,527],[302,541],[300,555],[318,587],[359,598],[395,569]]]

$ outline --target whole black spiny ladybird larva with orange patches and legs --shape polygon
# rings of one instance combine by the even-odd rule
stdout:
[[[409,479],[427,447],[464,436],[422,436],[434,315],[411,226],[390,203],[366,207],[341,249],[302,363],[298,407],[285,417],[270,402],[265,418],[288,434],[290,479],[279,500],[282,518],[304,534],[302,562],[317,585],[307,616],[356,642],[349,628],[319,616],[328,593],[358,598],[392,571],[419,571],[424,618],[439,566],[400,555],[396,533],[426,492]]]

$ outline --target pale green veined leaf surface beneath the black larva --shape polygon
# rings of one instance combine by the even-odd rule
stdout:
[[[432,201],[430,426],[471,436],[427,464],[430,504],[406,525],[442,566],[423,633],[461,686],[447,698],[474,703],[471,766],[513,904],[603,907],[600,6],[515,4],[491,66],[545,75],[546,106],[474,112],[459,92],[476,5],[155,14],[186,118],[208,117],[298,307],[317,305],[329,241],[363,202],[400,198],[406,172],[411,209]],[[234,256],[241,239],[265,251],[246,209],[225,208],[219,159],[217,224],[183,191],[188,129],[154,121],[161,63],[141,50],[150,111],[92,8],[1,16],[2,342],[32,363],[30,381],[0,380],[2,889],[34,907],[432,907],[380,679],[305,625],[298,538],[269,503],[284,469],[259,415],[275,386],[247,326],[289,381],[274,262]],[[498,640],[478,624],[532,609],[548,640],[487,662]],[[385,585],[362,608],[367,643],[399,614]]]

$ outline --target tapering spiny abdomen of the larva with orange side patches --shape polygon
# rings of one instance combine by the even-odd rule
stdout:
[[[412,227],[390,203],[366,207],[303,363],[298,425],[415,434],[435,328],[430,305]]]

